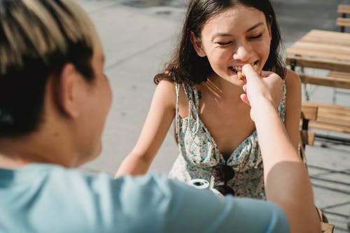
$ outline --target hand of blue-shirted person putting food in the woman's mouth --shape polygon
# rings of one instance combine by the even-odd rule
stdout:
[[[283,97],[283,83],[279,75],[269,71],[256,72],[251,64],[242,67],[246,76],[246,85],[243,86],[245,94],[241,99],[251,106],[251,118],[263,111],[266,104],[272,104],[275,109],[279,106]]]

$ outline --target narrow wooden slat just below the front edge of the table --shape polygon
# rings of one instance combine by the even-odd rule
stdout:
[[[304,74],[300,74],[299,76],[302,80],[302,83],[350,89],[350,79],[323,76],[308,76]]]

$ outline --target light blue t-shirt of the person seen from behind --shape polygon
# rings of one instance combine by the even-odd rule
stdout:
[[[84,174],[50,164],[0,169],[0,232],[289,232],[272,202],[218,197],[160,174]]]

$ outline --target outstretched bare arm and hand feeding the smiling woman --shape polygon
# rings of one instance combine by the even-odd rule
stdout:
[[[277,113],[283,80],[265,71],[261,78],[249,64],[243,72],[247,83],[241,99],[251,106],[258,132],[267,199],[285,211],[291,232],[320,232],[309,176]]]

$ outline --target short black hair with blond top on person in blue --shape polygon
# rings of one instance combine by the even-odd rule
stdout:
[[[0,0],[0,138],[39,129],[45,85],[64,64],[92,80],[92,30],[70,0]]]

